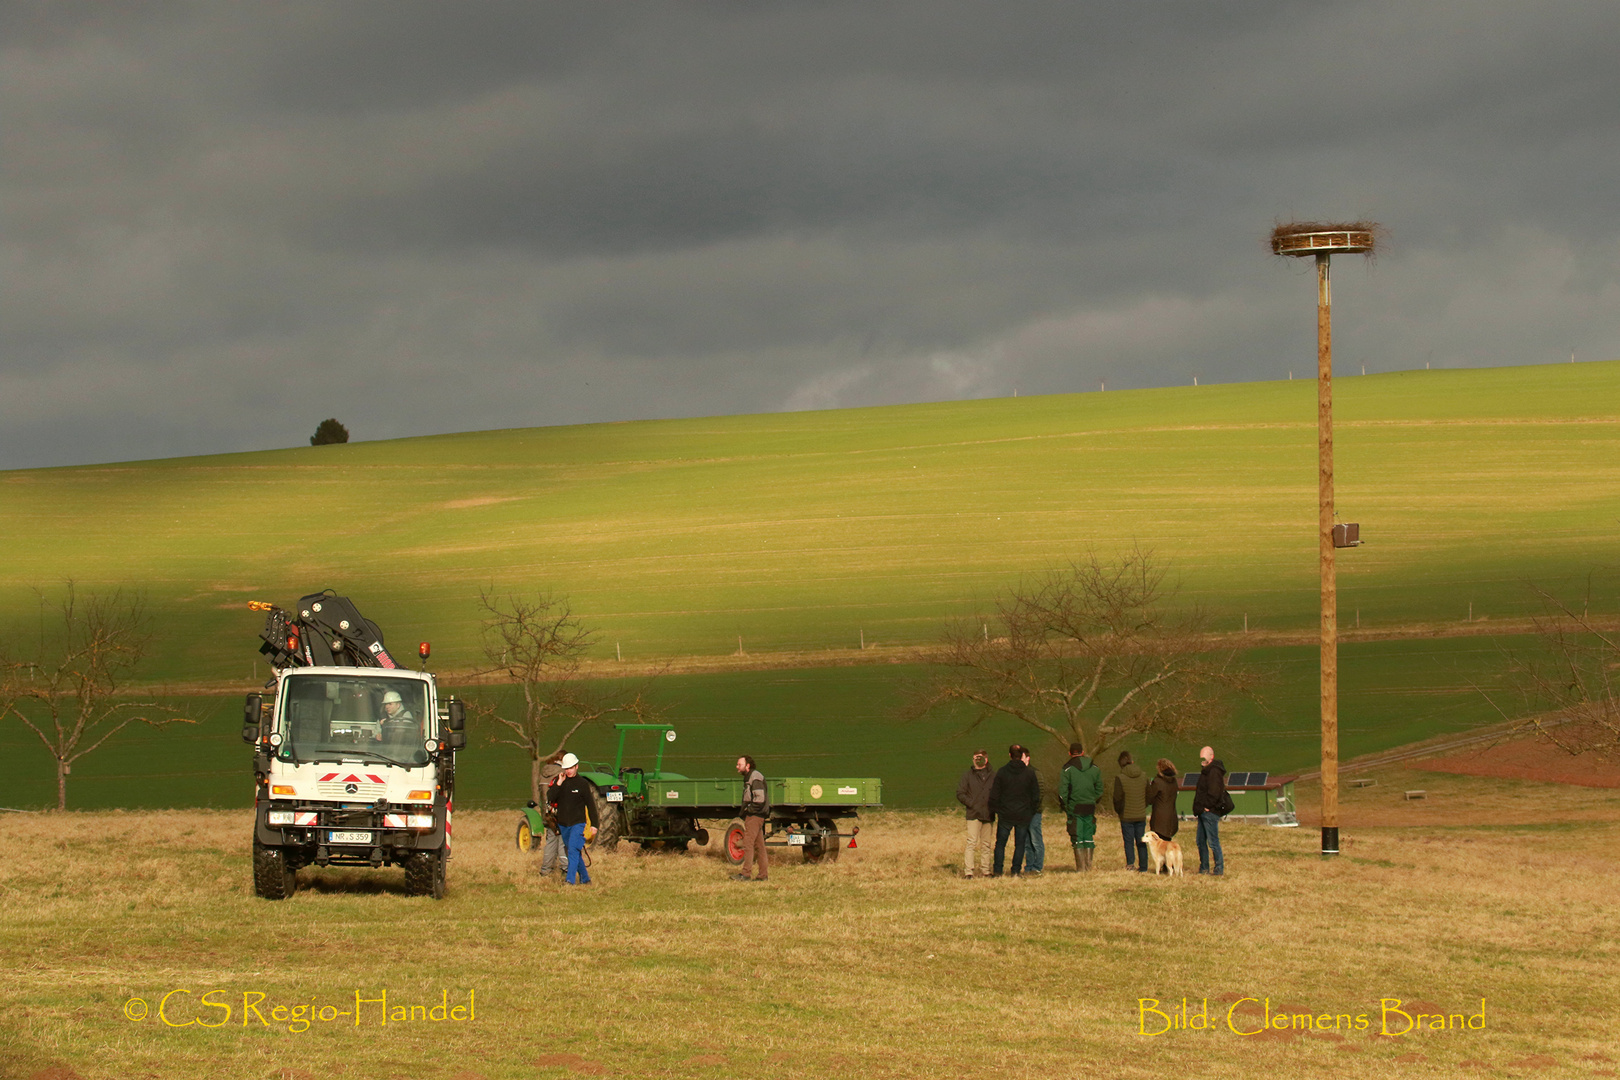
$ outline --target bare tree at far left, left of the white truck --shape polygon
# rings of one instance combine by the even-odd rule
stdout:
[[[0,719],[16,717],[55,758],[57,810],[66,810],[75,761],[130,724],[193,721],[123,691],[151,641],[139,597],[81,594],[70,581],[60,601],[39,593],[39,615],[32,656],[0,656]]]

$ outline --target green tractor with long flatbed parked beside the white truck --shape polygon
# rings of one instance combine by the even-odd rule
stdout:
[[[664,771],[664,745],[676,742],[669,724],[616,724],[619,753],[612,766],[585,763],[580,776],[596,789],[596,847],[612,850],[620,840],[643,850],[684,852],[706,845],[705,823],[724,821],[724,852],[742,863],[740,776],[693,779]],[[624,764],[630,732],[661,732],[651,769]],[[838,858],[842,842],[860,831],[854,818],[862,808],[883,805],[883,780],[876,777],[795,776],[768,780],[771,810],[765,842],[804,852],[807,863]],[[517,845],[530,850],[544,836],[538,806],[530,805],[517,827]]]

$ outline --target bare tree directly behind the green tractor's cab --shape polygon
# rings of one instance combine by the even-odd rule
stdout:
[[[480,589],[484,612],[483,646],[489,667],[480,675],[502,675],[523,695],[518,717],[501,716],[488,701],[471,701],[475,716],[494,721],[492,742],[517,746],[530,759],[531,798],[539,801],[539,767],[562,755],[586,724],[609,716],[650,719],[651,678],[630,687],[604,687],[583,678],[580,664],[596,640],[565,597]]]

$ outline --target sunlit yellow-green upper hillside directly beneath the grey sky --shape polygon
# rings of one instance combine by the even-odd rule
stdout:
[[[1528,610],[1620,518],[1620,363],[1336,384],[1362,625]],[[248,599],[324,586],[475,661],[478,586],[567,593],[599,653],[933,640],[1021,573],[1155,547],[1228,628],[1315,622],[1314,384],[496,431],[0,473],[0,604],[152,601],[156,678],[249,677]]]

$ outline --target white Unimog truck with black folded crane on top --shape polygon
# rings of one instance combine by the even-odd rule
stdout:
[[[415,895],[444,897],[455,751],[465,709],[426,670],[400,669],[382,631],[329,591],[269,612],[275,677],[249,693],[253,889],[285,900],[303,866],[403,866]],[[428,659],[426,643],[421,646]]]

